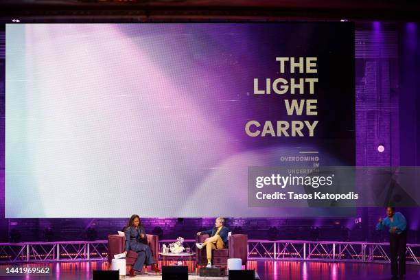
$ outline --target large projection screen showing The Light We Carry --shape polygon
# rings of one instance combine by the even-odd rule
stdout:
[[[255,94],[279,77],[317,78],[315,94]],[[287,97],[318,115],[287,115]],[[247,172],[305,151],[354,165],[354,99],[349,23],[6,25],[6,218],[344,214],[248,207]],[[315,119],[314,135],[245,129]]]

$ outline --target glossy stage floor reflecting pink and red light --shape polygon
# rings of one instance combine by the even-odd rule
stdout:
[[[159,265],[160,262],[159,262]],[[27,264],[23,264],[27,266]],[[108,263],[101,261],[75,261],[45,264],[30,264],[32,267],[49,267],[51,273],[39,276],[4,276],[5,268],[10,265],[0,264],[0,279],[60,279],[90,280],[92,270],[107,270]],[[319,261],[248,261],[248,268],[254,269],[261,280],[344,280],[344,279],[390,279],[390,264],[329,263]],[[124,279],[132,279],[129,276]],[[141,278],[138,278],[141,279]],[[407,265],[405,279],[420,279],[420,266]]]

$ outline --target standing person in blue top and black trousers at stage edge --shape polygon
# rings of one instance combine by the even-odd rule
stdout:
[[[376,229],[382,231],[384,226],[388,227],[391,274],[393,279],[397,279],[397,275],[402,279],[406,275],[407,221],[403,214],[395,213],[394,207],[386,207],[386,216],[378,220]]]

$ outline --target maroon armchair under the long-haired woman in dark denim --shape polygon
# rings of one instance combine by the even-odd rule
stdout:
[[[158,261],[158,252],[159,252],[159,237],[157,235],[147,234],[147,241],[144,240],[144,244],[148,244],[150,250],[152,251],[152,256],[156,261]],[[126,237],[120,236],[117,234],[108,235],[108,263],[112,262],[114,255],[123,253],[126,250]],[[141,252],[142,253],[142,252]],[[135,264],[138,254],[132,250],[127,252],[126,255],[126,264],[127,266],[132,266]]]

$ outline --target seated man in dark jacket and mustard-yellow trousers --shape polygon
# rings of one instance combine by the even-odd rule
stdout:
[[[197,235],[209,234],[210,237],[204,243],[196,243],[200,250],[206,247],[207,250],[207,268],[211,268],[211,250],[220,250],[227,247],[229,229],[224,226],[224,218],[219,217],[215,220],[215,227],[209,231],[200,231]]]

